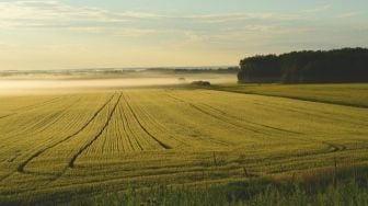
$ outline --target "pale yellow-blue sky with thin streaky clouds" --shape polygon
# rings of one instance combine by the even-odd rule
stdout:
[[[367,0],[0,0],[0,70],[232,66],[367,46]]]

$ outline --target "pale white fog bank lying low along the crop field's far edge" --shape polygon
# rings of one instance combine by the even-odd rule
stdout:
[[[182,78],[180,80],[179,78]],[[183,80],[184,79],[184,80]],[[0,79],[0,94],[33,94],[56,93],[73,91],[91,91],[95,89],[124,89],[156,85],[175,85],[191,83],[196,80],[210,81],[211,83],[234,82],[232,76],[200,76],[188,77],[150,77],[150,78],[119,78],[119,79]]]

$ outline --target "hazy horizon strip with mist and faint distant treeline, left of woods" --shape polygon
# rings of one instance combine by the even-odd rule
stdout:
[[[188,84],[193,81],[209,81],[211,83],[233,83],[234,75],[223,73],[182,73],[139,72],[129,75],[12,75],[0,77],[0,95],[19,95],[37,92],[72,92],[73,89],[123,89],[157,85]]]

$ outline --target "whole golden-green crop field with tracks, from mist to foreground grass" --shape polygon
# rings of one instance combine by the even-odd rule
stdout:
[[[0,204],[367,165],[367,84],[288,87],[3,95]]]

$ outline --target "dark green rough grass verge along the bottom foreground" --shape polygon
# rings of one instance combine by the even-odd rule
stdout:
[[[290,180],[251,179],[220,185],[130,188],[72,205],[368,205],[367,168]]]

